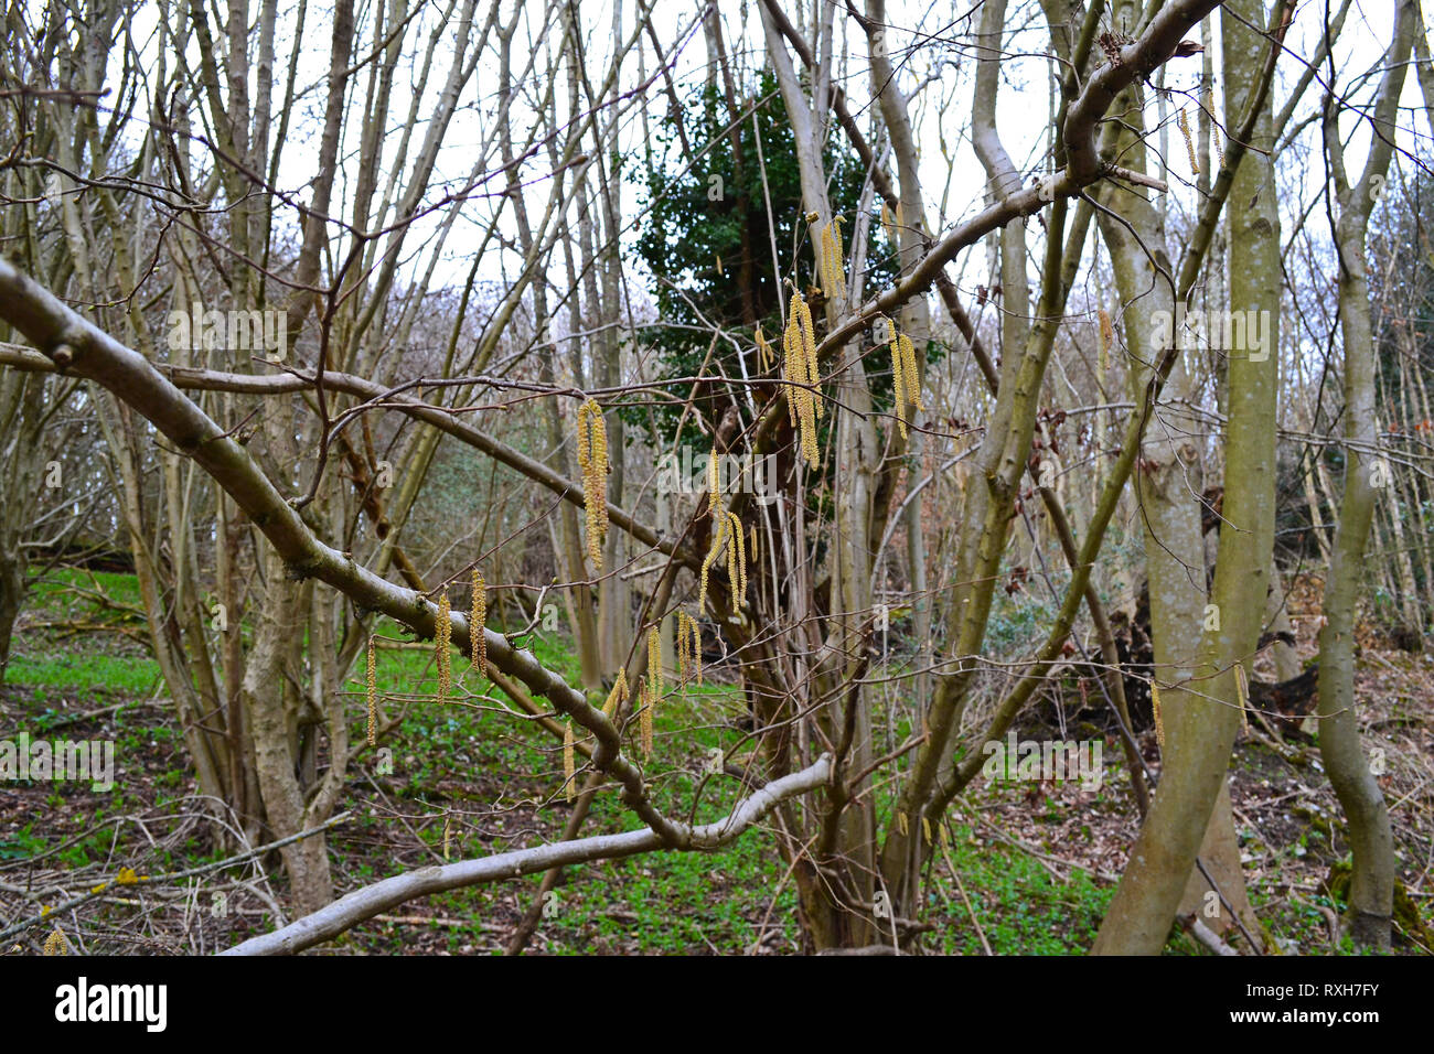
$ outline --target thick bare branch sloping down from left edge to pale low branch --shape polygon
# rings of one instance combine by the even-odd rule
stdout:
[[[437,605],[423,594],[394,585],[353,558],[326,545],[264,475],[248,452],[195,406],[155,366],[62,304],[54,294],[0,260],[0,317],[63,371],[93,380],[155,424],[192,457],[254,521],[295,578],[317,578],[370,611],[383,612],[432,637]],[[452,615],[453,642],[472,654],[467,619]],[[597,740],[592,763],[622,784],[622,800],[663,843],[687,845],[693,830],[663,816],[648,800],[642,771],[622,756],[618,728],[584,693],[545,668],[526,648],[515,648],[485,627],[488,661],[569,714]]]

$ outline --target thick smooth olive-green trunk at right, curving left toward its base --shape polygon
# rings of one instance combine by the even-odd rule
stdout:
[[[1093,951],[1154,955],[1164,946],[1215,804],[1225,787],[1240,724],[1235,665],[1253,660],[1262,628],[1275,532],[1275,397],[1281,297],[1279,212],[1275,194],[1271,47],[1279,47],[1282,4],[1268,20],[1259,0],[1229,0],[1222,10],[1225,125],[1246,126],[1252,149],[1233,175],[1230,201],[1252,202],[1230,214],[1228,280],[1230,310],[1268,313],[1269,346],[1233,348],[1230,406],[1225,426],[1225,525],[1220,531],[1213,601],[1220,627],[1205,631],[1193,698],[1166,716],[1166,759],[1130,863],[1111,899]],[[1271,24],[1273,43],[1250,26]],[[1255,108],[1250,112],[1250,108]]]

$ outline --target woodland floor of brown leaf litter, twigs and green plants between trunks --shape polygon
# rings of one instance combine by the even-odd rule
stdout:
[[[192,794],[176,718],[153,663],[139,644],[133,579],[50,575],[24,617],[10,683],[0,685],[0,739],[113,739],[116,784],[0,783],[0,931],[53,908],[120,868],[169,875],[225,860]],[[1318,588],[1308,576],[1291,597],[1301,658],[1315,651]],[[99,599],[103,597],[103,599]],[[82,624],[80,632],[56,622]],[[397,641],[394,641],[397,645]],[[535,638],[545,663],[572,660],[559,638]],[[1381,777],[1391,807],[1401,880],[1434,921],[1434,658],[1385,647],[1365,634],[1358,667],[1368,749],[1385,751]],[[1256,670],[1256,675],[1269,677]],[[492,713],[492,703],[437,706],[430,650],[380,651],[380,683],[394,774],[374,774],[364,749],[350,766],[350,819],[330,833],[337,892],[416,866],[536,845],[561,835],[568,806],[556,796],[561,754],[531,724]],[[476,681],[475,681],[476,684]],[[354,741],[363,737],[361,685],[354,690]],[[650,771],[660,796],[690,802],[703,761],[739,744],[741,716],[730,687],[674,697],[658,711]],[[664,730],[664,724],[667,728]],[[677,728],[687,728],[677,734]],[[664,734],[667,731],[668,734]],[[1154,733],[1141,736],[1147,761]],[[978,777],[949,819],[938,853],[925,936],[932,952],[1080,954],[1091,941],[1136,833],[1130,784],[1114,740],[1106,783],[985,784]],[[1338,802],[1306,736],[1273,749],[1243,736],[1232,763],[1232,800],[1255,909],[1289,954],[1348,952],[1332,939],[1338,902],[1325,882],[1348,859]],[[701,820],[739,796],[734,779],[708,780]],[[515,790],[521,792],[515,796]],[[500,794],[505,794],[499,797]],[[584,833],[632,826],[612,794],[599,794]],[[674,804],[675,807],[675,804]],[[879,803],[885,809],[885,802]],[[447,837],[445,837],[447,832]],[[211,952],[275,925],[285,901],[277,859],[189,879],[112,891],[56,919],[89,954]],[[959,875],[954,880],[952,869]],[[535,895],[536,878],[459,891],[403,905],[314,954],[492,954]],[[215,893],[224,913],[215,913]],[[796,898],[771,835],[754,830],[717,855],[657,853],[569,869],[529,949],[539,954],[792,954],[802,951]],[[1408,916],[1405,916],[1408,922]],[[0,942],[0,954],[40,949],[50,924]],[[1397,954],[1427,954],[1427,939],[1398,926]],[[1236,938],[1233,941],[1239,944]],[[1177,935],[1167,951],[1205,954]]]

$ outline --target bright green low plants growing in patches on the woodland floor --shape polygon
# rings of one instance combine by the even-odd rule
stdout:
[[[52,572],[34,585],[32,614],[39,611],[54,619],[123,618],[89,597],[96,589],[118,604],[138,604],[130,575]],[[1035,608],[1030,599],[1012,607],[1020,612],[1015,621],[1030,617]],[[413,640],[389,619],[381,621],[379,634],[393,642]],[[116,634],[66,638],[57,647],[27,647],[14,657],[9,680],[29,685],[33,700],[43,707],[32,716],[33,728],[42,730],[47,720],[72,714],[75,703],[66,695],[73,697],[75,693],[115,691],[143,697],[162,688],[153,660],[143,654],[125,654],[139,652],[128,641],[122,641],[126,647],[115,648],[116,638]],[[579,683],[578,660],[568,640],[533,634],[515,644],[531,647],[545,667],[558,671],[569,684]],[[112,654],[116,651],[119,654]],[[383,711],[389,718],[399,720],[384,743],[393,749],[394,774],[399,777],[396,790],[389,783],[389,796],[407,827],[442,853],[445,817],[453,816],[457,837],[455,858],[538,845],[561,835],[568,809],[561,797],[562,759],[546,731],[535,721],[503,713],[500,704],[513,711],[518,707],[486,678],[469,671],[467,661],[456,652],[453,701],[445,704],[436,700],[432,644],[380,647],[376,658]],[[350,763],[354,776],[351,792],[340,802],[340,809],[371,800],[363,779],[364,771],[373,771],[374,760],[364,744],[363,677],[364,658],[360,652],[343,685],[348,695],[350,741],[357,753]],[[492,693],[496,698],[483,700],[478,697],[480,693]],[[601,704],[601,700],[595,701]],[[83,700],[80,706],[85,706]],[[886,703],[878,706],[886,711]],[[723,750],[724,756],[751,751],[753,743],[734,727],[744,711],[741,694],[733,685],[707,684],[703,688],[690,687],[685,693],[668,691],[657,711],[654,756],[642,760],[660,809],[698,823],[730,812],[744,792],[728,776],[708,776],[704,766],[714,749]],[[152,713],[129,710],[109,718],[116,727],[118,756],[153,757],[156,747],[169,747],[169,756],[176,759],[172,771],[163,771],[161,766],[145,774],[149,803],[159,807],[182,797],[191,783],[182,769],[182,747],[175,741],[178,727],[174,716],[168,710],[162,713],[159,723]],[[906,720],[901,707],[889,716]],[[903,724],[893,731],[898,739],[906,733]],[[634,757],[640,757],[635,723],[627,741]],[[888,789],[878,792],[882,815],[891,809],[888,793]],[[76,823],[76,830],[133,807],[129,797],[133,796],[116,787],[103,807],[80,817],[85,823]],[[505,826],[509,810],[518,819]],[[400,842],[409,836],[406,829],[399,829],[397,817],[387,817],[383,810],[379,816],[364,813],[367,809],[346,826],[356,836],[354,845],[346,845],[343,833],[336,833],[330,842],[336,880],[341,888],[422,866],[414,863],[412,853],[402,862],[391,855],[366,855],[361,842],[390,832]],[[637,826],[638,820],[621,803],[617,789],[607,787],[595,799],[582,836]],[[479,837],[480,832],[493,837],[485,842]],[[0,858],[33,855],[63,840],[67,833],[73,832],[26,826],[0,843]],[[102,826],[66,848],[59,860],[82,866],[105,859],[113,852],[113,833],[108,825]],[[965,908],[938,855],[923,913],[935,924],[926,938],[929,948],[982,954],[972,912],[997,954],[1083,954],[1090,948],[1110,889],[1096,886],[1083,872],[1076,872],[1068,882],[1058,882],[1020,850],[991,842],[977,845],[965,826],[952,827],[951,855],[972,909],[968,912]],[[202,859],[202,850],[195,843],[174,856],[178,859],[166,859],[166,866],[182,868]],[[433,911],[462,924],[436,928],[442,932],[442,944],[453,951],[490,945],[493,935],[490,929],[483,929],[483,922],[493,918],[499,906],[505,908],[508,918],[512,908],[525,909],[536,895],[538,883],[539,876],[529,876],[432,898]],[[543,946],[555,954],[628,949],[740,954],[763,936],[767,936],[764,946],[776,951],[799,949],[802,941],[794,883],[777,852],[776,836],[760,826],[716,853],[660,852],[569,868],[556,896],[555,913],[539,926]],[[771,938],[771,934],[777,936]],[[412,928],[371,922],[336,948],[361,944],[374,951],[393,951],[397,942],[409,938]]]

